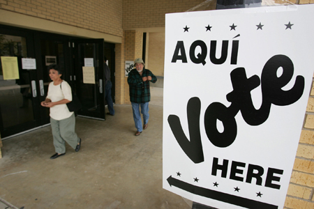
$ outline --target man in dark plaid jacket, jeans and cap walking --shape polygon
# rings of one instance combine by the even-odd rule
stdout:
[[[135,59],[134,64],[135,69],[128,73],[128,85],[130,88],[130,102],[133,109],[133,118],[135,127],[137,128],[135,136],[139,136],[142,130],[148,127],[149,101],[151,100],[149,82],[156,83],[157,78],[150,70],[144,68],[145,63],[142,59]],[[144,120],[143,126],[141,113]]]

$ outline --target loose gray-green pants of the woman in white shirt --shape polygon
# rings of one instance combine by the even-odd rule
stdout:
[[[54,137],[54,149],[56,153],[66,153],[66,142],[75,149],[80,138],[75,133],[75,116],[56,121],[50,118],[52,136]]]

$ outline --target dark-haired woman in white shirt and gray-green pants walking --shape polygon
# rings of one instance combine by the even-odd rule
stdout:
[[[49,65],[47,69],[52,82],[48,87],[47,98],[40,104],[50,107],[50,124],[56,150],[50,159],[55,159],[66,154],[66,142],[78,152],[81,139],[75,133],[75,114],[66,106],[66,103],[72,101],[71,87],[61,79],[62,72],[58,65]]]

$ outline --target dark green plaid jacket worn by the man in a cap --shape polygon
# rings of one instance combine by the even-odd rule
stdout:
[[[142,77],[151,76],[151,81],[143,82]],[[143,68],[142,76],[136,69],[128,73],[128,86],[130,88],[130,101],[135,103],[145,103],[151,100],[151,91],[149,90],[149,82],[156,83],[157,78],[151,72]]]

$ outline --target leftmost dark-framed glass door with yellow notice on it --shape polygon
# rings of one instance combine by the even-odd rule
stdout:
[[[35,60],[32,34],[1,28],[0,56],[0,134],[6,138],[40,125],[38,71],[22,65],[24,58]]]

